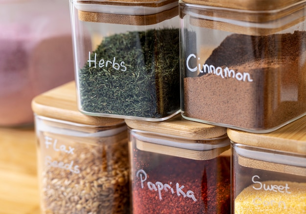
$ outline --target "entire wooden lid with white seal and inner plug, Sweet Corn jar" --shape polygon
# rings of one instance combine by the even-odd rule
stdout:
[[[227,134],[234,143],[259,150],[237,149],[241,166],[306,176],[306,116],[270,133],[228,128]]]

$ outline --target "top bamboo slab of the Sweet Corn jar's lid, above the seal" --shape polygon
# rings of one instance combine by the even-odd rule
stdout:
[[[306,155],[306,116],[270,133],[256,134],[227,129],[235,143],[268,150]]]

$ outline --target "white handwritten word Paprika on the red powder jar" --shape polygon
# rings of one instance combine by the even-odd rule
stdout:
[[[184,185],[179,185],[179,183],[175,184],[175,189],[171,187],[172,182],[169,182],[169,184],[163,184],[160,181],[156,181],[155,183],[151,182],[151,181],[147,181],[148,179],[148,175],[144,170],[138,170],[136,172],[136,177],[140,178],[140,184],[141,184],[141,189],[145,188],[145,183],[147,184],[147,187],[150,191],[155,191],[158,193],[158,198],[159,200],[162,200],[162,195],[163,193],[169,193],[169,190],[171,191],[172,194],[175,194],[177,196],[183,196],[184,198],[191,198],[193,201],[197,201],[195,193],[191,190],[188,190],[186,193],[184,192]]]

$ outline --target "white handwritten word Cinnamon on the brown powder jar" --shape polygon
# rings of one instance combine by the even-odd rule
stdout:
[[[215,74],[217,76],[220,76],[222,79],[225,77],[229,78],[235,78],[238,81],[243,82],[253,82],[253,79],[251,75],[248,72],[236,72],[233,69],[230,69],[228,67],[215,67],[212,64],[198,64],[198,66],[193,67],[190,63],[191,59],[196,59],[197,56],[195,54],[190,54],[186,59],[186,67],[190,72],[196,72],[199,71],[200,73],[204,74]],[[200,58],[198,58],[200,60]],[[202,68],[201,68],[202,67]]]

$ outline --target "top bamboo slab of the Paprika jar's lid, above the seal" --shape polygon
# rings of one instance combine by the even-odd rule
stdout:
[[[180,114],[166,121],[150,122],[126,119],[126,124],[133,129],[171,135],[190,140],[218,138],[226,134],[226,128],[189,121]]]

